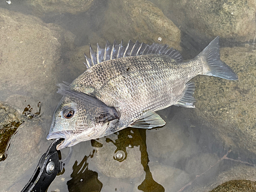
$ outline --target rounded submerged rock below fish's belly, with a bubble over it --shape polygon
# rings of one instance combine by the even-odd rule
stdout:
[[[102,174],[131,179],[144,173],[147,154],[137,129],[127,128],[118,132],[118,135],[92,140],[92,146],[95,149],[93,163]]]

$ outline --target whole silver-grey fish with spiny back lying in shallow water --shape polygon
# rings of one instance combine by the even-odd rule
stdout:
[[[171,105],[195,108],[197,75],[228,80],[238,76],[220,59],[219,36],[195,58],[183,60],[167,45],[114,40],[105,48],[90,45],[87,70],[72,83],[60,83],[62,99],[47,139],[64,138],[57,150],[101,138],[126,127],[152,129],[165,125],[156,111]]]

